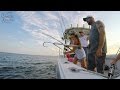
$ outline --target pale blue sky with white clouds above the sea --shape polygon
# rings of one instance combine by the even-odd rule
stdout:
[[[57,47],[50,43],[44,47],[43,43],[63,42],[65,29],[71,24],[87,26],[82,18],[88,15],[105,24],[107,54],[116,54],[120,47],[120,11],[0,11],[0,52],[57,56]]]

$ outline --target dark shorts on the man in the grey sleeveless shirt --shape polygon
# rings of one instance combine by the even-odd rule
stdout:
[[[98,73],[104,73],[103,67],[105,64],[106,53],[103,53],[101,57],[95,58],[95,53],[88,54],[88,70],[94,71],[95,67]]]

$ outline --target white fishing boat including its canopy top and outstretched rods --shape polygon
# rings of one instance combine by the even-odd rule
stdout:
[[[68,59],[63,54],[63,52],[65,52],[66,50],[65,46],[69,42],[69,35],[74,32],[78,36],[80,36],[79,35],[80,31],[83,31],[85,35],[89,36],[90,27],[89,28],[85,28],[84,26],[72,27],[71,25],[71,27],[66,29],[63,33],[62,40],[64,41],[64,43],[50,35],[47,35],[50,38],[53,38],[54,40],[57,41],[57,43],[55,42],[52,44],[59,48],[59,56],[58,56],[58,61],[56,65],[57,79],[120,79],[120,69],[117,69],[116,65],[108,65],[109,70],[106,70],[104,71],[104,74],[101,74],[95,71],[87,70],[85,68],[82,68],[78,64],[73,64],[73,62],[68,61]],[[51,42],[44,42],[43,43],[44,47],[46,47],[45,43],[51,43]],[[59,45],[62,45],[64,47],[61,48]],[[120,49],[118,51],[120,52]]]

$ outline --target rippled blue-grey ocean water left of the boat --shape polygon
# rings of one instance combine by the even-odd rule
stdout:
[[[57,58],[0,52],[0,79],[56,79]]]

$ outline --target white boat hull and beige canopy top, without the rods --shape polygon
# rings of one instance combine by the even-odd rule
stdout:
[[[71,27],[65,30],[63,40],[66,44],[70,33],[84,31],[86,35],[89,35],[89,30],[89,28],[84,27]],[[120,79],[120,74],[113,75],[114,70],[115,67],[110,67],[105,74],[90,71],[68,61],[65,55],[59,55],[56,67],[57,79]]]

